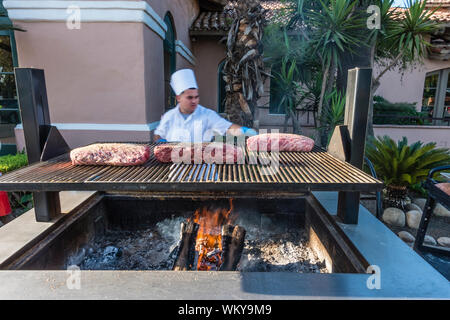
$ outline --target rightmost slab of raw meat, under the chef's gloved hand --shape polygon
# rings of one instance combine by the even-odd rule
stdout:
[[[272,150],[278,147],[278,150]],[[247,139],[249,151],[304,151],[314,147],[314,140],[291,133],[264,133]]]

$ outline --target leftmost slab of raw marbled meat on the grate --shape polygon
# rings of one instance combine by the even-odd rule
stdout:
[[[74,165],[135,166],[149,158],[149,146],[130,143],[96,143],[70,152]]]

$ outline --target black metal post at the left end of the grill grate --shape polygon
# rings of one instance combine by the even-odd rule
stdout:
[[[15,68],[17,95],[22,116],[29,164],[41,161],[51,131],[44,70]],[[61,213],[59,192],[34,192],[36,221],[48,222]]]

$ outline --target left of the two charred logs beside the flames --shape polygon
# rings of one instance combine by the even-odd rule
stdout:
[[[197,239],[198,227],[199,225],[193,221],[181,224],[181,239],[173,270],[192,270],[195,260],[195,242]]]

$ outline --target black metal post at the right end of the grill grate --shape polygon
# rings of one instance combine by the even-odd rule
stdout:
[[[371,85],[371,68],[355,68],[348,71],[344,120],[348,141],[342,143],[349,145],[346,160],[359,169],[362,169],[364,161]],[[359,192],[339,192],[337,216],[341,222],[358,223],[359,197]]]

